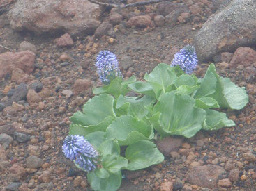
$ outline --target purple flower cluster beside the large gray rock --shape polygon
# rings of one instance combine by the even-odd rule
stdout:
[[[175,53],[171,66],[179,65],[179,67],[187,74],[192,74],[197,67],[197,54],[195,47],[186,45],[179,52]]]

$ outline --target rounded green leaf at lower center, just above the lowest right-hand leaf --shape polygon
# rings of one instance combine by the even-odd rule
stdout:
[[[153,138],[153,128],[151,126],[127,115],[116,118],[107,127],[106,133],[107,138],[116,138],[120,145],[133,144],[138,140]]]

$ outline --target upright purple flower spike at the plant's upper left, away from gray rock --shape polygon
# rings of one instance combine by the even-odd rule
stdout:
[[[116,77],[123,77],[116,56],[110,51],[100,51],[96,57],[96,67],[100,81],[110,84]]]

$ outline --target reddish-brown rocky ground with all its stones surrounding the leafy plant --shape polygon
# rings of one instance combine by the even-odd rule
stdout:
[[[121,10],[77,1],[96,10],[89,14],[97,19],[84,18],[86,26],[77,17],[85,13],[76,15],[76,3],[57,6],[60,17],[50,15],[52,10],[40,15],[48,4],[36,2],[22,15],[19,8],[26,6],[17,6],[19,1],[0,1],[0,188],[90,190],[86,174],[63,156],[61,144],[68,135],[68,117],[101,85],[94,66],[97,53],[112,51],[125,78],[142,80],[158,63],[170,63],[176,51],[193,44],[221,1],[180,0]],[[33,12],[37,8],[41,10]],[[124,172],[119,190],[256,189],[256,52],[240,47],[214,61],[220,76],[246,87],[249,94],[246,108],[225,111],[236,126],[156,142],[165,161]],[[197,76],[208,65],[200,62]]]

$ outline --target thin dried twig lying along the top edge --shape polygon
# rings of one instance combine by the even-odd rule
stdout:
[[[124,6],[116,5],[114,3],[102,3],[102,2],[95,1],[95,0],[88,0],[88,1],[90,1],[91,3],[98,4],[100,6],[110,6],[110,7],[114,7],[114,8],[128,8],[128,7],[135,7],[135,6],[145,6],[145,5],[152,4],[152,3],[159,3],[161,1],[174,1],[174,0],[139,1],[139,2],[136,2],[136,3],[129,3],[129,4],[126,4]]]

